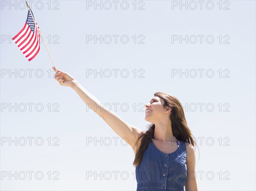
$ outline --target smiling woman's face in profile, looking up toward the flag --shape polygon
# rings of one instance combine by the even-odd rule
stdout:
[[[163,108],[163,104],[164,102],[160,97],[152,97],[150,102],[145,104],[145,120],[154,123],[156,120],[163,119],[166,116],[166,109]]]

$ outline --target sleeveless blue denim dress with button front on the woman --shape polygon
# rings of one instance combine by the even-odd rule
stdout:
[[[152,138],[153,140],[153,138]],[[176,138],[175,138],[176,140]],[[178,149],[170,154],[148,144],[143,159],[136,167],[137,191],[184,191],[187,180],[186,143],[177,140]]]

